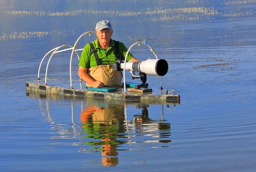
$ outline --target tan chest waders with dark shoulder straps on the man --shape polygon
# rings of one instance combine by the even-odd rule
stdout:
[[[119,52],[119,42],[114,41],[115,43],[115,57],[116,60],[121,60],[120,52]],[[104,86],[107,87],[122,87],[122,78],[123,74],[121,71],[116,71],[113,65],[103,65],[101,64],[101,60],[97,54],[97,50],[95,49],[93,43],[89,43],[91,50],[94,53],[94,57],[97,63],[97,66],[89,67],[87,73],[91,78],[97,81],[103,82]],[[88,83],[86,83],[87,87],[91,87]]]

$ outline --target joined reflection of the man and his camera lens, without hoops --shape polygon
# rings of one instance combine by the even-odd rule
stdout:
[[[81,123],[84,143],[90,146],[92,152],[101,152],[102,166],[116,166],[119,163],[118,148],[123,143],[171,142],[170,123],[151,120],[147,107],[142,105],[139,107],[142,108],[142,114],[134,115],[134,121],[130,121],[129,124],[126,121],[129,127],[124,126],[123,105],[93,101],[83,109]]]

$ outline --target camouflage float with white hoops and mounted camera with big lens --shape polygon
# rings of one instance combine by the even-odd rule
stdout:
[[[82,88],[82,79],[80,78],[80,87],[73,87],[72,79],[72,60],[73,56],[76,55],[79,60],[80,55],[78,51],[83,49],[77,49],[77,44],[79,40],[86,35],[93,33],[93,31],[84,32],[75,42],[74,46],[64,44],[54,49],[48,51],[41,60],[41,63],[38,67],[37,79],[31,82],[26,82],[26,93],[29,97],[39,97],[39,98],[56,98],[56,97],[72,97],[72,98],[82,98],[82,99],[101,99],[104,101],[119,101],[119,102],[141,102],[142,104],[180,104],[180,95],[176,94],[174,90],[159,90],[154,91],[152,88],[147,88],[148,84],[146,83],[146,74],[149,75],[159,75],[161,76],[161,87],[162,88],[162,76],[165,75],[168,71],[168,63],[166,60],[158,59],[155,51],[150,47],[145,41],[136,42],[131,45],[126,53],[126,57],[123,63],[120,63],[119,67],[123,69],[123,88]],[[145,61],[126,63],[127,54],[129,54],[130,49],[134,45],[146,45],[149,50],[155,56],[155,59],[147,59]],[[64,49],[65,47],[65,49]],[[50,86],[47,83],[48,79],[48,68],[50,65],[51,59],[57,53],[71,51],[70,62],[69,62],[69,80],[70,87],[63,88],[60,83],[59,86]],[[40,79],[40,71],[45,59],[48,58],[47,66],[45,68],[44,83]],[[141,83],[126,82],[125,71],[130,71],[132,73],[132,79],[139,79]],[[139,72],[135,74],[135,72]],[[126,88],[128,87],[128,88]],[[33,96],[35,95],[35,96]]]

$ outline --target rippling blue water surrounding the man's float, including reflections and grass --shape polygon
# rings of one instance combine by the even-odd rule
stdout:
[[[0,170],[254,171],[255,9],[228,0],[0,1]],[[145,39],[168,61],[163,85],[180,105],[26,95],[45,53],[104,18],[114,39]],[[153,57],[143,46],[132,53]],[[68,87],[68,69],[68,52],[52,59],[49,84]],[[148,82],[159,89],[159,78]]]

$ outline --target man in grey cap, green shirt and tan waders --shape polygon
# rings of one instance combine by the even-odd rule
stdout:
[[[127,47],[111,39],[113,30],[109,20],[98,22],[95,33],[97,39],[84,46],[78,63],[78,75],[87,87],[122,87],[122,72],[115,71],[113,64],[117,58],[124,60]],[[127,61],[139,60],[129,53]]]

